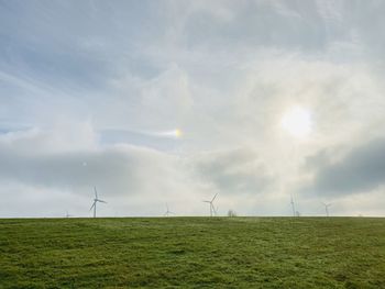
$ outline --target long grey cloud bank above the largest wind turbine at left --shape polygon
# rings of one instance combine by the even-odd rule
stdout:
[[[173,157],[130,145],[69,152],[30,151],[0,144],[0,180],[89,193],[92,186],[109,194],[169,190]],[[151,178],[151,184],[147,179]]]

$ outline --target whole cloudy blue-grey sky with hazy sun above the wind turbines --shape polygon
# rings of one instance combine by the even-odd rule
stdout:
[[[384,13],[0,0],[0,218],[385,215]]]

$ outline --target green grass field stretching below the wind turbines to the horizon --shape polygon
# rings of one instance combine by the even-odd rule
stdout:
[[[0,288],[385,288],[385,219],[0,220]]]

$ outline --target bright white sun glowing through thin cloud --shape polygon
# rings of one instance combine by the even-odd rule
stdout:
[[[280,125],[290,135],[305,138],[312,131],[311,113],[302,107],[293,107],[284,113]]]

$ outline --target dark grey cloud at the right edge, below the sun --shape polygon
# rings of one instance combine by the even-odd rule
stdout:
[[[353,148],[341,160],[332,162],[330,152],[307,159],[314,182],[307,190],[320,194],[349,194],[373,190],[385,184],[385,138]]]

